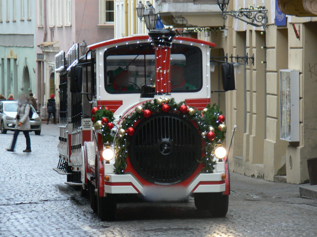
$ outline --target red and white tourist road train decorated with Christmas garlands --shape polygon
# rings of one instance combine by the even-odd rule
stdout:
[[[54,170],[89,193],[102,220],[115,219],[116,198],[127,194],[158,201],[193,196],[198,209],[226,215],[224,117],[208,106],[211,47],[153,30],[89,45],[82,57],[78,44],[56,54]],[[225,90],[234,89],[232,65],[224,63],[222,74]]]

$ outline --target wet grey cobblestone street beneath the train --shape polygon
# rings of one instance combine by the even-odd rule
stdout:
[[[66,186],[53,171],[58,162],[57,125],[31,133],[32,153],[12,132],[0,134],[0,237],[289,237],[317,236],[317,200],[299,197],[297,185],[266,182],[231,173],[225,218],[188,203],[118,203],[118,220],[101,222],[89,199]]]

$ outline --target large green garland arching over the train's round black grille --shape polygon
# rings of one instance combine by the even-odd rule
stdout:
[[[152,114],[154,113],[166,113],[162,111],[162,106],[166,104],[169,106],[169,112],[174,113],[181,117],[185,117],[188,120],[194,121],[197,124],[197,129],[202,134],[202,139],[205,142],[203,146],[203,153],[206,154],[198,160],[199,162],[204,164],[203,171],[207,173],[212,173],[215,167],[216,161],[213,159],[214,154],[213,151],[215,149],[216,143],[220,140],[223,141],[225,139],[225,125],[224,129],[220,131],[218,126],[222,124],[219,122],[218,116],[222,114],[221,110],[219,110],[218,106],[215,104],[211,107],[210,104],[207,105],[207,108],[203,111],[198,111],[193,107],[190,107],[190,111],[186,113],[182,113],[180,111],[182,105],[186,105],[186,102],[176,103],[174,99],[164,100],[164,99],[154,99],[152,101],[147,101],[142,105],[143,111],[150,110]],[[134,112],[132,112],[129,116],[125,117],[118,127],[117,135],[114,138],[115,144],[115,163],[114,163],[114,172],[117,174],[122,174],[126,168],[126,158],[128,157],[127,147],[129,146],[127,134],[127,129],[132,127],[134,128],[135,122],[146,119],[144,117],[144,113],[138,107]],[[207,133],[211,126],[214,128],[215,138],[213,140],[208,139]]]

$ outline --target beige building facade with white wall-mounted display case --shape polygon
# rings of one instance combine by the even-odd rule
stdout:
[[[216,1],[159,0],[158,11],[164,24],[183,27],[201,40],[216,43],[211,57],[254,54],[254,65],[244,65],[240,74],[236,70],[236,90],[212,93],[211,97],[211,103],[226,112],[228,148],[237,125],[229,153],[230,170],[299,184],[309,179],[307,159],[316,157],[317,18],[311,12],[300,15],[305,17],[285,15],[280,10],[293,8],[286,6],[289,1],[283,2],[283,6],[267,0],[229,2],[229,10],[264,5],[267,29],[232,17],[223,20]],[[303,6],[308,1],[300,2]],[[298,15],[301,10],[294,12]],[[211,72],[212,91],[222,88],[218,69]],[[292,70],[298,77],[284,78],[281,70]],[[283,89],[285,81],[293,84],[292,93]],[[294,138],[285,137],[291,130]]]

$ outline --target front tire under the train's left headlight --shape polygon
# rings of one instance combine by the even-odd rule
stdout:
[[[114,221],[117,214],[117,200],[115,194],[107,197],[97,197],[98,216],[102,221]]]

